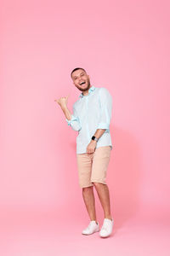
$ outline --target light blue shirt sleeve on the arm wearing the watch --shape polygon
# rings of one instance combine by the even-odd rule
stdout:
[[[105,87],[99,90],[100,115],[97,129],[109,129],[111,123],[112,96]]]

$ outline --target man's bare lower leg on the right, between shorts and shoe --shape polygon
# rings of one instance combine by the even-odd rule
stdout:
[[[99,201],[101,202],[101,205],[103,207],[105,218],[112,219],[108,186],[103,183],[94,183],[94,187],[98,193]]]

